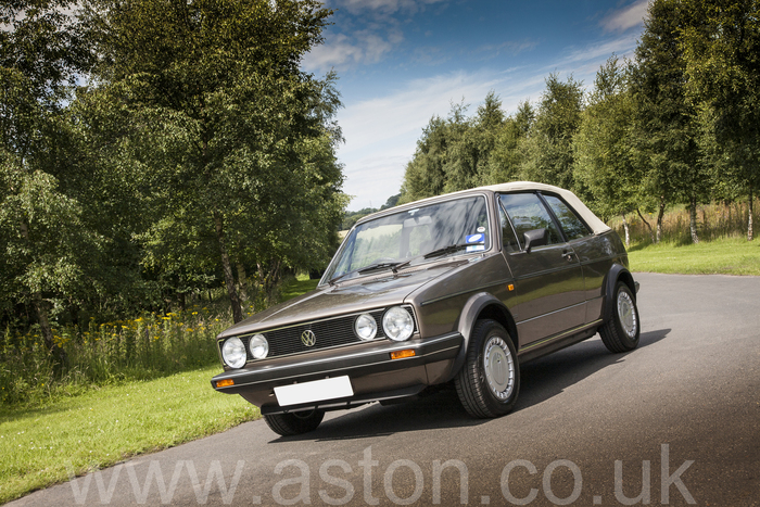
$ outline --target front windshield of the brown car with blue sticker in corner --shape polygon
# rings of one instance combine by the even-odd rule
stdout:
[[[429,204],[357,226],[335,254],[322,280],[353,278],[375,266],[382,269],[415,265],[432,257],[490,248],[484,197]]]

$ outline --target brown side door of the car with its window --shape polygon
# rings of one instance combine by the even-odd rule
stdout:
[[[537,345],[585,321],[583,269],[539,193],[498,197],[503,253],[515,278],[510,310],[520,347]],[[546,245],[527,251],[524,233],[546,229]]]

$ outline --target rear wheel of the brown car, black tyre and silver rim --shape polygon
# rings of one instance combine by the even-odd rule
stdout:
[[[624,282],[619,281],[612,300],[612,318],[599,328],[601,342],[609,352],[633,351],[638,346],[641,327],[636,297]]]

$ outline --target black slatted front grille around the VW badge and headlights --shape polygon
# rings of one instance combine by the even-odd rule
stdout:
[[[411,307],[404,307],[409,312],[409,314],[411,314],[411,319],[415,322],[415,332],[417,332],[417,320],[415,319],[415,314]],[[378,325],[378,332],[375,340],[385,339],[385,333],[382,330],[382,316],[385,313],[385,308],[367,313],[372,316]],[[254,334],[264,334],[269,342],[269,354],[267,355],[267,358],[363,343],[364,340],[360,340],[354,333],[354,321],[359,315],[362,314],[344,315],[341,317],[304,322],[286,328],[253,332],[250,334],[240,335],[238,338],[240,338],[245,345],[248,360],[253,360],[248,345],[249,340]],[[313,346],[306,346],[301,341],[301,333],[307,329],[316,335],[316,342]],[[223,343],[224,341],[220,341],[219,346],[221,346]]]

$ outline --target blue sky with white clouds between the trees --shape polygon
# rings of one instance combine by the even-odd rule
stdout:
[[[349,210],[380,207],[433,115],[463,99],[474,113],[490,90],[507,114],[537,102],[558,73],[593,86],[612,54],[631,56],[648,0],[327,0],[335,13],[303,68],[334,68],[344,109],[338,151]]]

